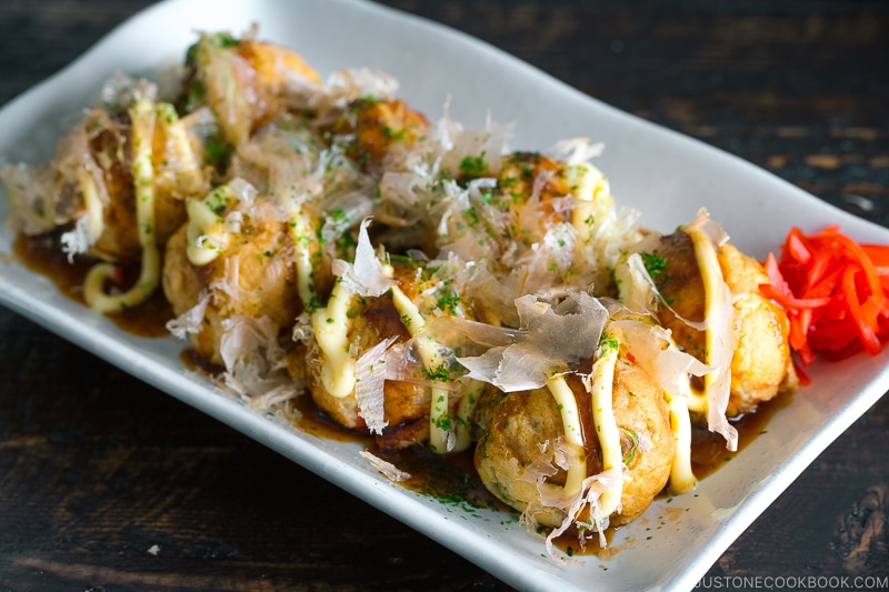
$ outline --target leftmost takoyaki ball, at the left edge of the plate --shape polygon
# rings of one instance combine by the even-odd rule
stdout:
[[[183,123],[166,111],[171,106],[154,107],[157,113],[149,116],[153,126],[144,128],[152,133],[151,234],[162,244],[184,220],[183,197],[206,185],[190,142],[169,141],[173,127],[184,134]],[[10,193],[16,223],[27,234],[71,229],[62,237],[71,254],[121,264],[139,261],[133,143],[126,108],[93,109],[59,141],[48,165],[4,168],[0,177]]]

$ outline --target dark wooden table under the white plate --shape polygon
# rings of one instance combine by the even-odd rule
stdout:
[[[4,0],[0,103],[149,3]],[[889,225],[885,2],[384,3],[486,39]],[[0,380],[0,590],[507,589],[6,310]],[[705,583],[889,575],[887,451],[889,398],[821,454]]]

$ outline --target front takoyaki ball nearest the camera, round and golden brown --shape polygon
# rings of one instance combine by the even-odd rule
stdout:
[[[578,377],[567,379],[583,418],[587,474],[602,471],[601,449],[592,428],[590,398]],[[612,391],[615,419],[621,433],[621,452],[626,470],[621,511],[610,518],[611,524],[623,524],[638,518],[667,485],[676,448],[670,413],[663,389],[642,369],[632,363],[621,348],[616,365]],[[557,402],[546,388],[518,391],[489,399],[496,407],[485,410],[487,430],[476,448],[476,468],[485,485],[501,501],[547,526],[558,526],[565,513],[547,506],[540,499],[535,470],[541,454],[551,455],[553,443],[565,439]],[[546,452],[541,452],[546,451]],[[555,472],[546,482],[565,485],[566,471],[551,465]],[[586,520],[587,516],[580,516]]]

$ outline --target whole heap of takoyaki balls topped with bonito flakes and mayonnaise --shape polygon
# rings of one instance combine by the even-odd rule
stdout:
[[[759,263],[703,210],[640,228],[601,146],[515,151],[447,103],[430,123],[390,76],[322,81],[256,31],[200,36],[178,74],[113,76],[50,163],[2,180],[19,231],[94,261],[89,307],[162,290],[170,331],[254,408],[308,393],[380,449],[475,449],[558,556],[555,536],[693,488],[691,425],[733,450],[727,418],[796,388]]]

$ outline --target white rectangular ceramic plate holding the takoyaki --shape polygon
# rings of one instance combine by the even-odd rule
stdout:
[[[430,119],[480,127],[488,112],[517,122],[516,149],[545,149],[588,136],[606,143],[597,161],[618,202],[638,208],[660,231],[706,207],[735,244],[763,258],[791,224],[839,223],[860,241],[889,243],[889,231],[841,212],[773,175],[568,88],[491,47],[423,20],[359,0],[170,0],[127,21],[59,74],[0,111],[0,160],[43,162],[64,122],[111,72],[143,73],[179,63],[198,30],[246,31],[301,52],[321,73],[373,67],[401,81],[399,94]],[[8,205],[0,197],[0,217]],[[0,233],[0,252],[13,237]],[[559,565],[522,526],[497,512],[463,513],[391,484],[357,445],[319,440],[271,421],[186,371],[181,342],[147,340],[59,294],[46,278],[0,263],[0,302],[257,439],[527,590],[691,589],[728,545],[799,473],[889,388],[887,354],[816,363],[812,385],[771,419],[769,430],[703,480],[696,495],[656,502],[623,528],[602,563]],[[510,521],[506,521],[510,522]],[[607,569],[602,569],[602,566]]]

